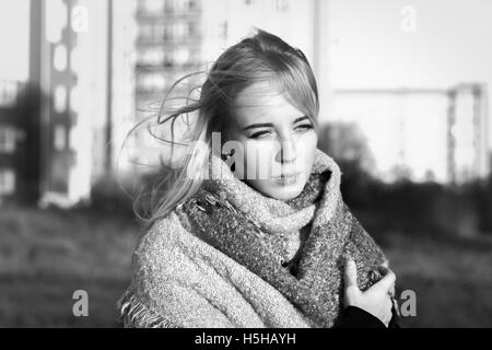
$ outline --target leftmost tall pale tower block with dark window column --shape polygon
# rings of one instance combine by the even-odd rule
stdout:
[[[39,202],[87,201],[107,171],[108,1],[31,1],[30,84],[39,90]]]

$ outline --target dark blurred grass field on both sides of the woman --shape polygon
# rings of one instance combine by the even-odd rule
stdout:
[[[119,327],[139,228],[91,211],[0,210],[0,327]],[[492,242],[391,234],[384,249],[398,289],[417,293],[405,327],[492,327]],[[72,293],[89,293],[74,317]]]

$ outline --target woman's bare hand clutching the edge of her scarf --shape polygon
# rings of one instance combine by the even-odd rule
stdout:
[[[395,273],[386,269],[387,273],[370,289],[362,292],[358,287],[358,269],[350,259],[344,270],[344,306],[356,306],[379,318],[386,327],[391,320],[393,302],[389,293],[395,289]]]

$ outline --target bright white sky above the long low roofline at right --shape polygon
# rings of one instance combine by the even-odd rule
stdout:
[[[414,9],[414,31],[402,9]],[[330,0],[332,84],[447,88],[492,82],[492,1]]]

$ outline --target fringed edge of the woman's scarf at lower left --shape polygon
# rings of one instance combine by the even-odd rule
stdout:
[[[179,328],[140,302],[132,291],[121,296],[116,306],[125,328]]]

